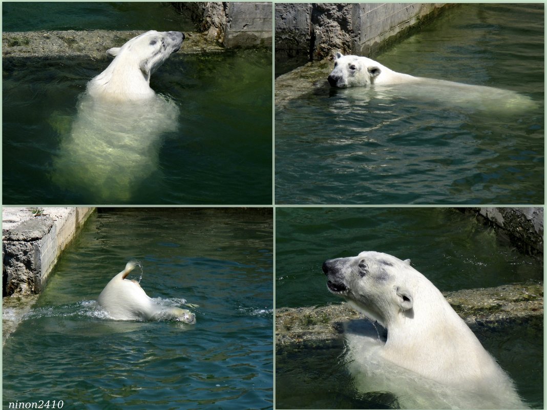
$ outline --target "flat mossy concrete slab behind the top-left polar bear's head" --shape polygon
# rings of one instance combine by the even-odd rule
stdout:
[[[144,31],[26,31],[2,33],[2,57],[90,57],[106,60],[106,51],[119,47]],[[178,53],[222,52],[224,48],[206,34],[185,32]]]

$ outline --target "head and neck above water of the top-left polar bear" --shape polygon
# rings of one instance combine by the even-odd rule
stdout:
[[[114,56],[106,70],[93,78],[88,91],[93,97],[114,101],[137,101],[155,96],[150,75],[181,48],[184,34],[177,31],[147,31],[121,47],[107,50]]]

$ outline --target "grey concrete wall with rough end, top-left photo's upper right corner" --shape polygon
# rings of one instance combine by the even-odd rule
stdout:
[[[188,12],[202,32],[226,48],[272,45],[271,2],[189,2],[175,7]]]

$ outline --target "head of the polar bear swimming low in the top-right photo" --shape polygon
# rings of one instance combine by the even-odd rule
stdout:
[[[345,56],[337,52],[334,69],[328,80],[332,87],[344,88],[373,85],[383,71],[391,71],[367,57]]]

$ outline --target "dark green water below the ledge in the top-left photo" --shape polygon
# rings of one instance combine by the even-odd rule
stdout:
[[[133,13],[143,11],[137,7]],[[68,155],[66,140],[73,134],[86,83],[111,59],[4,59],[3,203],[271,204],[271,52],[183,52],[184,43],[150,81],[176,105],[175,126],[153,134],[149,148],[141,135],[147,125],[135,133],[132,124],[130,145],[139,160],[128,155],[127,161],[110,165],[108,175],[87,173],[88,181],[73,178],[74,167],[59,169],[57,159]],[[89,143],[86,149],[99,151],[91,151],[89,158],[99,158],[103,147],[93,146],[92,139]],[[141,155],[146,151],[149,158]],[[63,173],[71,176],[59,177]],[[131,189],[108,190],[110,183],[117,186],[112,180],[130,180]]]

